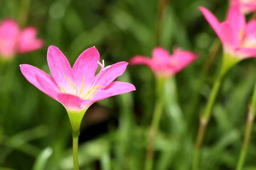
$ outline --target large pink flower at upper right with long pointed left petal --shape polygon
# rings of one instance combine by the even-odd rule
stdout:
[[[241,60],[256,56],[256,20],[246,23],[238,6],[231,6],[227,20],[220,23],[206,8],[199,8],[222,42],[225,53]]]

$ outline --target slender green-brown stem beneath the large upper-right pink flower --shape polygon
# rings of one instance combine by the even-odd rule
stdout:
[[[221,73],[221,71],[220,71],[220,73]],[[211,94],[209,96],[205,112],[200,118],[200,125],[198,128],[198,135],[197,135],[197,139],[196,139],[194,157],[193,157],[193,170],[198,170],[199,152],[201,149],[202,141],[204,139],[204,133],[205,133],[207,124],[208,124],[210,116],[211,116],[212,106],[213,106],[216,96],[218,94],[218,91],[219,91],[219,88],[221,85],[221,81],[222,81],[222,76],[221,76],[221,74],[218,74],[218,77],[215,80]]]

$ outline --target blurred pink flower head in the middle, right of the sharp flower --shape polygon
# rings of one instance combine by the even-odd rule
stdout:
[[[164,48],[156,47],[152,58],[135,56],[131,58],[132,65],[147,65],[157,76],[170,77],[197,59],[198,54],[176,48],[169,54]]]

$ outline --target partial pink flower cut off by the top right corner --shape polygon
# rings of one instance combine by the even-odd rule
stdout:
[[[256,0],[230,0],[232,6],[239,6],[244,14],[256,10]]]

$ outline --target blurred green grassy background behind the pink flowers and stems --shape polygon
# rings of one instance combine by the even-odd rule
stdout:
[[[43,49],[0,63],[0,170],[72,170],[72,136],[64,107],[31,85],[19,65],[47,73],[47,48],[55,45],[71,65],[96,46],[106,65],[134,55],[151,56],[156,43],[158,0],[1,0],[0,17],[38,28]],[[160,46],[199,52],[198,60],[166,85],[165,106],[156,140],[155,170],[189,170],[202,112],[221,50],[205,66],[216,35],[198,6],[225,18],[227,0],[169,0],[163,11]],[[255,59],[226,76],[214,105],[201,152],[201,170],[233,170],[239,157],[247,107],[256,76]],[[203,70],[203,71],[202,71]],[[142,170],[148,126],[155,102],[154,75],[128,66],[118,80],[137,91],[93,104],[79,137],[81,170]],[[256,126],[244,170],[256,170]]]

